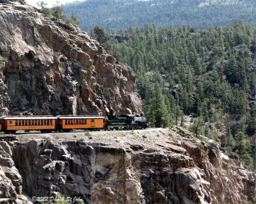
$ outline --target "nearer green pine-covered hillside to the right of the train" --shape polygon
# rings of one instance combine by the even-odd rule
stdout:
[[[99,27],[94,31],[98,40],[104,36]],[[236,152],[253,167],[256,30],[252,26],[238,20],[202,31],[146,24],[118,35],[108,32],[108,38],[102,44],[107,49],[112,45],[110,54],[137,75],[137,89],[152,126],[184,125],[190,115],[189,129],[195,134],[221,141],[228,152]]]

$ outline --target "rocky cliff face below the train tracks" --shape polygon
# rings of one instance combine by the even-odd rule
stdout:
[[[120,132],[1,142],[0,184],[10,187],[0,198],[29,202],[23,192],[95,204],[255,203],[255,173],[207,138],[179,127]]]

